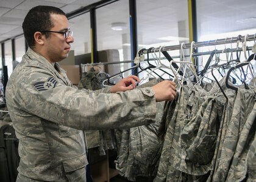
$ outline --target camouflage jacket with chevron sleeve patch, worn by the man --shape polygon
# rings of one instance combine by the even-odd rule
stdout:
[[[78,90],[59,64],[32,49],[13,70],[6,101],[20,140],[17,181],[86,181],[82,130],[140,126],[152,123],[156,113],[150,87]]]

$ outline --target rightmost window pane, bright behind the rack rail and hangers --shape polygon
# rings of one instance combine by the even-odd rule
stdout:
[[[246,1],[245,4],[241,4],[240,1],[197,0],[198,41],[236,38],[238,35],[246,36],[247,34],[254,35],[256,33],[256,16],[251,9],[255,7],[256,4],[254,0]],[[253,44],[254,41],[247,42],[248,47],[251,47]],[[242,48],[242,42],[240,42],[238,46]],[[232,44],[227,41],[226,44],[201,47],[198,50],[199,52],[211,52],[213,50],[234,49],[228,53],[215,54],[213,61],[219,62],[227,61],[227,59],[236,59],[236,47],[236,43]],[[246,54],[248,57],[251,52]],[[241,52],[239,57],[241,62],[246,59],[243,52]],[[198,66],[204,67],[208,58],[209,55],[198,56]],[[220,75],[220,73],[216,72],[216,75]],[[224,73],[222,73],[222,75],[224,75]],[[212,75],[209,74],[208,77],[212,78]],[[218,78],[218,76],[216,77]]]

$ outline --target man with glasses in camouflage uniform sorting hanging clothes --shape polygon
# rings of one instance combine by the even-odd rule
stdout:
[[[6,101],[20,140],[17,181],[86,181],[82,130],[152,123],[155,102],[171,101],[175,84],[134,89],[137,76],[97,91],[78,90],[57,62],[74,41],[59,8],[32,8],[23,22],[29,49],[10,76]],[[124,92],[126,91],[126,92]]]

